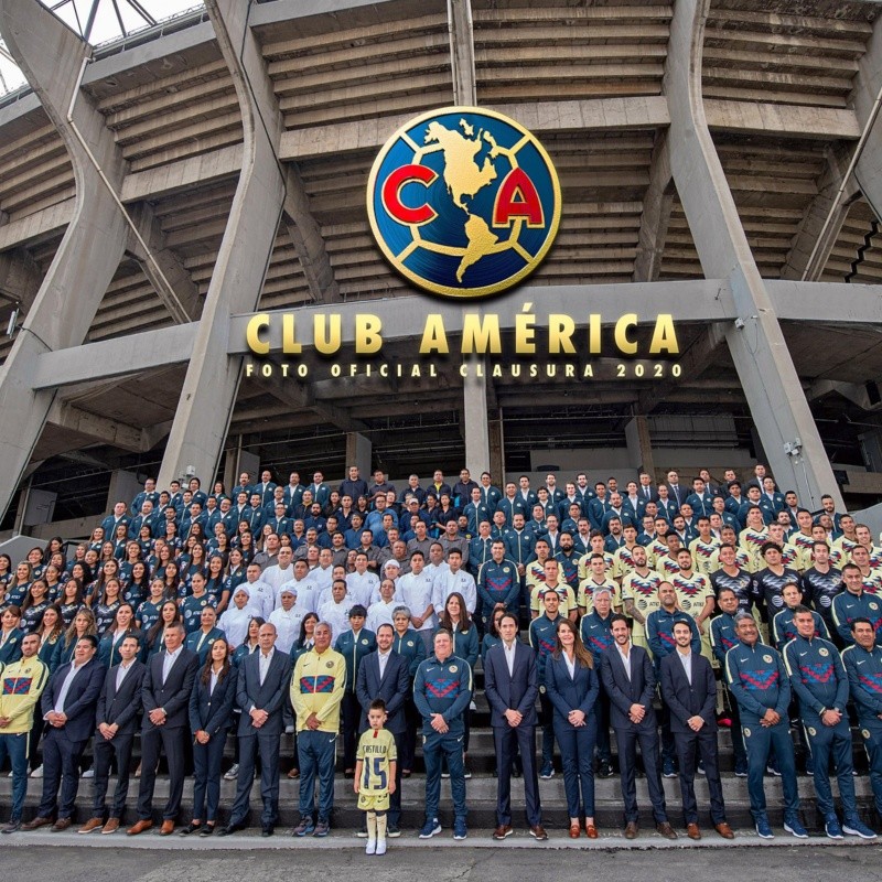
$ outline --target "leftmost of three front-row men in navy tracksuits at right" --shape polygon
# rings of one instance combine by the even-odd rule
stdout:
[[[747,793],[751,815],[762,839],[774,839],[766,815],[763,775],[774,749],[784,788],[784,829],[797,839],[808,838],[799,821],[796,763],[787,720],[790,681],[776,649],[760,643],[760,630],[750,613],[735,616],[738,644],[725,655],[725,679],[738,701],[741,731],[747,753]]]

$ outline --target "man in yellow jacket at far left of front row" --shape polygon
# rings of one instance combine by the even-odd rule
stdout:
[[[34,709],[49,682],[49,667],[40,660],[40,637],[28,634],[21,641],[21,658],[0,665],[0,765],[12,764],[12,810],[4,833],[21,828],[21,811],[28,794],[28,739],[34,724]]]

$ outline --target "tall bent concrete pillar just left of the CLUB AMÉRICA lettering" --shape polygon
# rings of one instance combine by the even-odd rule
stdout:
[[[214,478],[243,364],[241,356],[226,352],[229,318],[257,306],[284,203],[277,159],[281,118],[248,26],[252,4],[208,0],[206,8],[241,108],[243,168],[162,460],[161,487],[189,465],[203,486]]]

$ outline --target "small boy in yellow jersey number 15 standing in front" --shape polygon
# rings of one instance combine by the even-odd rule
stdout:
[[[367,813],[367,846],[365,854],[386,853],[386,813],[389,796],[395,793],[395,766],[398,754],[395,738],[383,725],[386,722],[386,702],[377,698],[367,711],[366,729],[358,741],[355,755],[355,793],[358,808]]]

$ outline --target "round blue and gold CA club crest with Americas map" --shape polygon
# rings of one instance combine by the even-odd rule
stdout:
[[[445,107],[386,142],[367,214],[389,262],[435,294],[478,298],[541,262],[560,223],[560,183],[545,148],[513,119]]]

